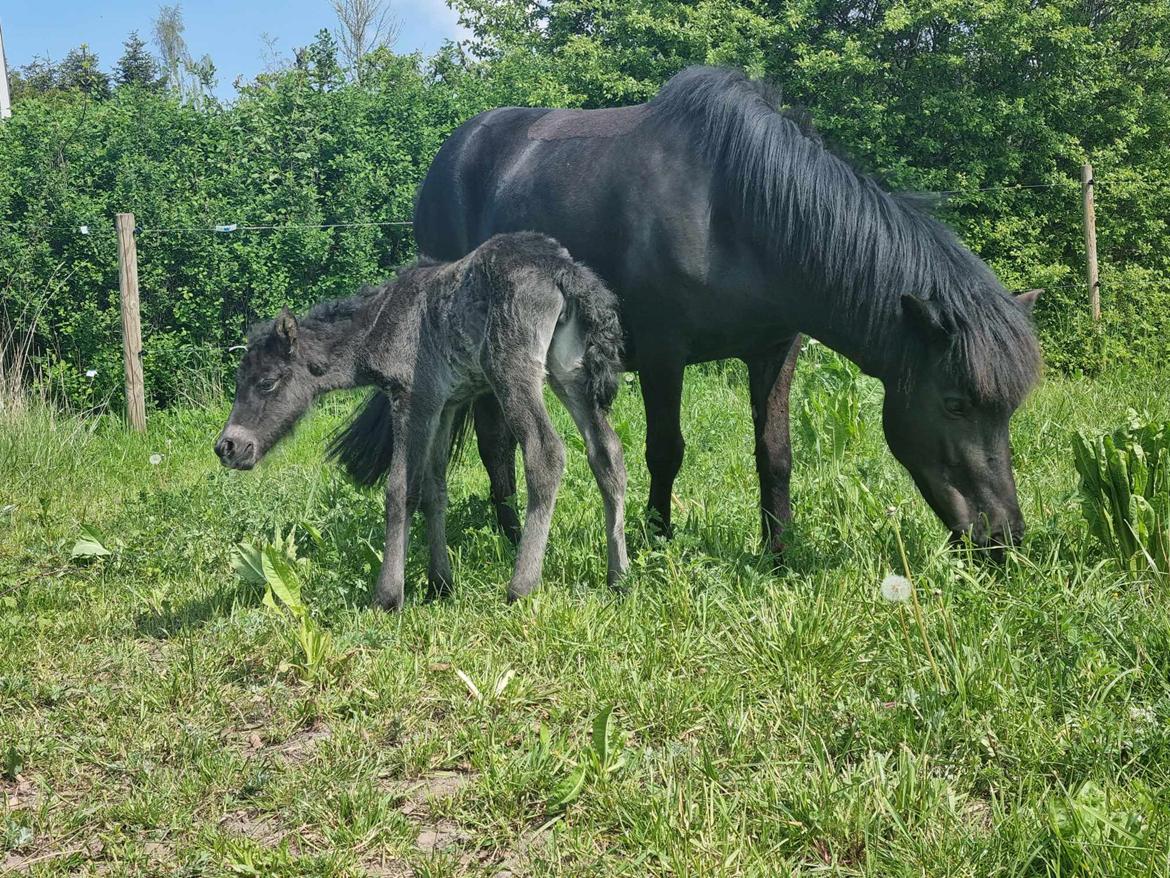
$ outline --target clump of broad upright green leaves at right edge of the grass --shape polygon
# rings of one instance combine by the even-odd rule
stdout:
[[[1130,570],[1170,574],[1170,421],[1136,414],[1110,435],[1073,437],[1089,530]]]

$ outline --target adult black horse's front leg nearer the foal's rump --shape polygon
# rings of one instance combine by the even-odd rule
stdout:
[[[639,356],[642,404],[646,407],[646,468],[651,473],[649,517],[669,537],[670,498],[682,466],[682,373],[684,362],[675,356]]]

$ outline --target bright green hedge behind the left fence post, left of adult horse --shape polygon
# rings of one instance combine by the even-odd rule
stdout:
[[[418,57],[366,67],[362,87],[336,67],[266,76],[227,109],[138,89],[19,103],[0,125],[0,330],[33,331],[34,366],[74,403],[119,398],[113,215],[133,212],[147,392],[166,405],[194,372],[223,376],[249,322],[410,259],[410,226],[201,231],[410,220],[443,137],[481,108]]]

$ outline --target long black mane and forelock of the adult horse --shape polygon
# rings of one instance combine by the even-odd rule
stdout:
[[[691,67],[651,102],[693,132],[779,265],[833,293],[840,320],[888,351],[908,378],[921,345],[902,325],[901,294],[935,304],[950,330],[945,368],[982,402],[1017,405],[1040,352],[1025,309],[920,200],[892,194],[826,149],[779,94],[737,70]]]

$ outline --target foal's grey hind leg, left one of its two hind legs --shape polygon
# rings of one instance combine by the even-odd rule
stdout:
[[[489,376],[504,419],[519,441],[528,489],[524,529],[516,550],[516,568],[508,585],[509,601],[524,597],[541,583],[557,488],[565,469],[564,444],[544,407],[543,364],[523,356],[523,350],[517,354],[497,364]]]

